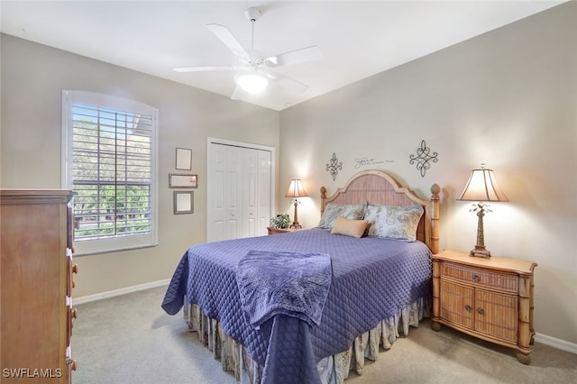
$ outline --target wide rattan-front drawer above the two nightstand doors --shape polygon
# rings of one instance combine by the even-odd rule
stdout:
[[[481,270],[466,265],[444,262],[441,265],[441,276],[466,283],[480,284],[484,287],[502,289],[511,293],[518,291],[517,275],[499,273],[494,270]]]

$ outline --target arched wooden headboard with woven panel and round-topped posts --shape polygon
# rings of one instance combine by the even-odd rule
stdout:
[[[363,170],[350,178],[333,196],[326,197],[326,188],[321,187],[321,216],[326,203],[357,204],[368,202],[386,206],[420,205],[425,214],[417,227],[417,239],[425,242],[433,253],[439,252],[439,193],[441,187],[431,187],[431,199],[418,197],[408,187],[402,187],[396,178],[382,170]]]

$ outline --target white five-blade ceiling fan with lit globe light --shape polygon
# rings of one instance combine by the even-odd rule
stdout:
[[[261,57],[254,52],[254,23],[261,17],[261,11],[258,8],[248,8],[245,11],[246,17],[252,23],[251,50],[245,50],[234,35],[224,25],[206,24],[206,27],[215,34],[215,36],[224,43],[229,50],[234,53],[238,64],[231,66],[210,66],[210,67],[179,67],[175,68],[176,72],[199,72],[215,70],[232,70],[236,72],[234,81],[236,87],[231,96],[233,99],[242,99],[243,90],[249,94],[258,94],[269,82],[279,84],[281,87],[288,87],[296,92],[305,92],[308,88],[306,84],[300,81],[281,75],[271,69],[291,64],[298,64],[307,61],[322,59],[323,54],[318,47],[311,46],[299,50],[280,53],[278,55]],[[250,53],[249,53],[250,52]]]

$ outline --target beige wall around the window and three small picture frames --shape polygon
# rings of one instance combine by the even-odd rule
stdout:
[[[208,136],[278,151],[276,111],[12,36],[1,38],[1,187],[60,187],[62,89],[122,96],[159,109],[159,245],[77,257],[76,297],[169,279],[184,251],[206,241]],[[192,215],[172,213],[168,175],[176,172],[176,147],[192,148],[192,171],[199,175]]]

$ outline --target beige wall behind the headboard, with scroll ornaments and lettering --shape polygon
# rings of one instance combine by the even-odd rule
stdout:
[[[293,175],[316,225],[329,193],[362,169],[385,169],[442,195],[442,248],[468,251],[477,217],[455,201],[473,168],[495,169],[510,203],[485,216],[497,255],[536,261],[536,332],[577,343],[577,4],[537,14],[280,113],[279,208]],[[438,152],[422,178],[409,164],[422,140]],[[343,162],[333,181],[333,152]],[[355,159],[376,164],[355,169]]]

